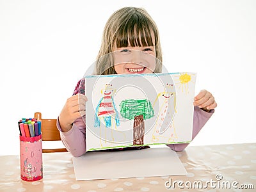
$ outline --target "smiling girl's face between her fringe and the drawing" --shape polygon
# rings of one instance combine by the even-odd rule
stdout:
[[[120,47],[113,52],[117,74],[150,74],[156,68],[155,46]]]

